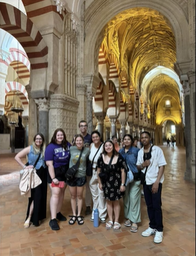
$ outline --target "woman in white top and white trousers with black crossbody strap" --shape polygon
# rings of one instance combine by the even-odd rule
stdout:
[[[93,167],[93,176],[90,179],[89,186],[93,199],[93,211],[90,220],[94,221],[94,210],[98,209],[101,223],[106,223],[106,199],[104,197],[103,191],[98,187],[98,176],[96,172],[98,157],[103,152],[103,143],[101,142],[101,134],[98,131],[93,131],[91,133],[91,138],[93,143],[90,144],[89,160]]]

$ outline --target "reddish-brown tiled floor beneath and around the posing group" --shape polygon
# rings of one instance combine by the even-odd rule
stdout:
[[[14,153],[0,154],[0,255],[21,256],[194,256],[195,255],[195,183],[184,181],[184,147],[161,146],[168,165],[163,183],[164,238],[161,244],[153,242],[153,236],[142,237],[148,228],[145,199],[142,197],[142,222],[137,233],[123,225],[122,207],[120,231],[106,230],[105,224],[93,227],[90,215],[85,216],[82,226],[68,221],[59,222],[60,230],[52,231],[48,189],[47,218],[41,226],[23,228],[27,198],[20,195],[20,166],[14,161]],[[24,160],[25,162],[25,160]],[[122,202],[121,202],[122,204]],[[85,204],[83,205],[85,210]],[[63,209],[67,216],[72,214],[68,189],[65,191]],[[83,212],[83,215],[85,213]]]

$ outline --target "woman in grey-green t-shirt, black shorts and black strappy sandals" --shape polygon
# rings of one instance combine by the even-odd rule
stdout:
[[[82,152],[82,154],[81,154]],[[90,153],[90,149],[84,145],[84,137],[81,134],[74,136],[74,144],[70,147],[70,161],[69,168],[73,165],[76,165],[77,160],[80,157],[80,164],[77,168],[77,173],[74,178],[69,181],[67,180],[67,185],[69,186],[69,192],[71,195],[71,205],[73,215],[69,220],[69,225],[73,225],[77,220],[78,225],[84,224],[82,212],[82,202],[83,202],[83,191],[85,189],[85,183],[87,182],[86,178],[86,163],[87,157]],[[77,214],[76,214],[77,212]]]

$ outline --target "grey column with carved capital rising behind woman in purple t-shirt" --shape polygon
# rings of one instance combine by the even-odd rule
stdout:
[[[46,144],[48,144],[48,100],[35,99],[35,103],[38,105],[38,131],[42,133]]]

